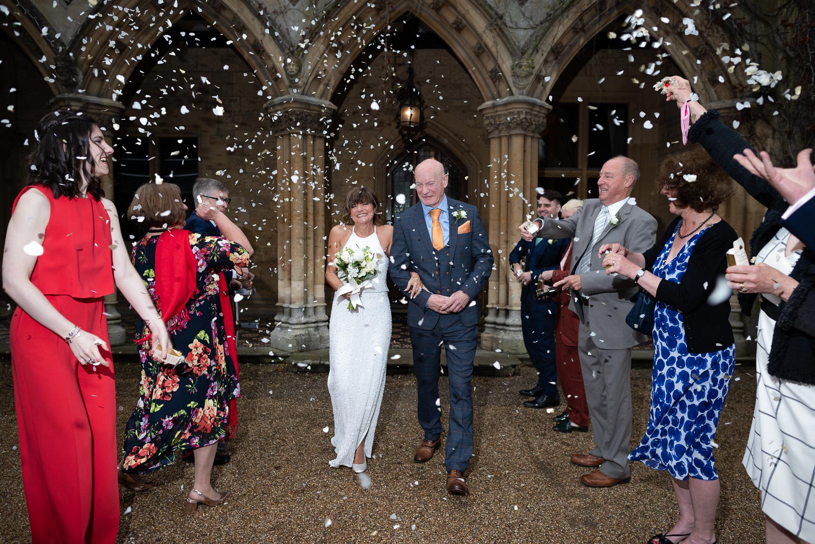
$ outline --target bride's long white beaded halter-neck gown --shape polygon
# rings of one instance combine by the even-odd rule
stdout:
[[[354,463],[355,450],[363,439],[365,457],[371,457],[390,346],[388,258],[376,229],[365,238],[352,231],[345,247],[354,246],[368,246],[381,258],[377,261],[377,275],[371,280],[373,285],[363,290],[362,304],[358,309],[348,309],[348,300],[334,295],[328,322],[331,365],[328,393],[334,409],[331,444],[337,453],[337,458],[328,462],[332,467],[350,467]]]

